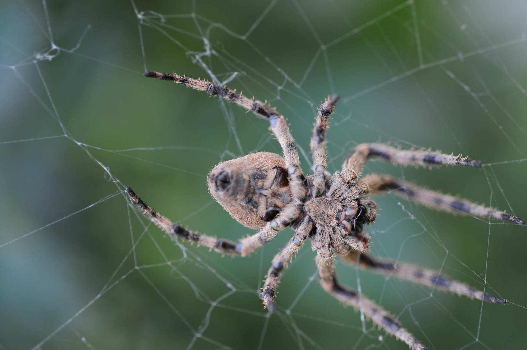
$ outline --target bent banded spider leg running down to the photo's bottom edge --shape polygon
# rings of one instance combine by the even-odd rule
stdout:
[[[335,297],[338,301],[353,306],[356,311],[360,310],[364,312],[364,315],[371,319],[373,323],[383,328],[387,333],[395,335],[397,339],[405,342],[412,349],[429,349],[419,342],[407,329],[401,327],[395,321],[394,316],[382,307],[363,295],[358,294],[353,289],[338,284],[335,277],[335,264],[332,258],[324,259],[317,255],[315,262],[320,276],[320,285],[327,293]]]

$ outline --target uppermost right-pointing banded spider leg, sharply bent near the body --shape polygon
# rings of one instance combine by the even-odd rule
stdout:
[[[344,161],[342,168],[351,172],[350,181],[359,176],[364,165],[370,158],[379,158],[393,164],[441,166],[465,165],[476,168],[481,167],[481,162],[461,155],[444,154],[430,151],[405,151],[379,143],[360,144],[355,147],[352,154]]]

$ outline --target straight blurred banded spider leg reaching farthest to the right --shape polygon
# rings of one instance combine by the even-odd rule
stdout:
[[[482,204],[476,204],[466,199],[456,198],[451,195],[442,194],[430,189],[416,186],[414,184],[394,179],[388,175],[369,174],[360,179],[359,183],[364,183],[368,187],[369,193],[381,193],[383,191],[393,191],[395,194],[412,199],[412,201],[427,207],[442,210],[445,212],[454,212],[460,214],[470,214],[487,219],[511,221],[523,226],[523,219],[514,215],[506,214],[495,208],[489,208]]]

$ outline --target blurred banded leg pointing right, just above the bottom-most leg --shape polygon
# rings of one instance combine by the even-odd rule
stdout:
[[[455,281],[454,279],[441,275],[437,271],[422,268],[417,265],[401,262],[395,263],[389,259],[369,256],[364,252],[358,254],[356,251],[350,251],[348,254],[341,256],[341,259],[349,264],[358,263],[360,268],[368,269],[377,274],[394,276],[404,281],[422,284],[443,292],[453,292],[457,293],[457,295],[464,295],[471,299],[475,298],[493,304],[507,304],[507,299],[483,293],[463,282]]]

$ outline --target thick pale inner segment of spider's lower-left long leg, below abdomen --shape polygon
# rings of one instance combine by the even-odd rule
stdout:
[[[247,256],[257,251],[302,214],[304,214],[302,206],[295,204],[286,206],[274,219],[262,227],[258,233],[240,239],[236,251],[240,252],[241,256]]]

